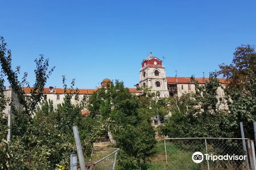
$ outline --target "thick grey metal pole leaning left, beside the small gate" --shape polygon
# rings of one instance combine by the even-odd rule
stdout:
[[[77,155],[79,158],[80,168],[81,168],[81,170],[86,170],[82,145],[81,145],[80,136],[79,136],[77,126],[73,126],[73,133],[74,133],[74,137],[75,137],[75,142],[76,142],[76,147],[77,147]]]

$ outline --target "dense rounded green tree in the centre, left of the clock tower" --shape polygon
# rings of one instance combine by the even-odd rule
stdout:
[[[143,99],[144,102],[147,100]],[[118,164],[122,169],[128,165],[138,167],[141,160],[146,161],[152,156],[156,139],[154,128],[149,124],[149,108],[145,103],[140,103],[140,99],[130,93],[123,82],[116,80],[115,84],[107,84],[106,88],[94,92],[88,100],[88,110],[92,116],[110,118],[122,127],[115,133],[110,128],[117,147],[121,149]]]

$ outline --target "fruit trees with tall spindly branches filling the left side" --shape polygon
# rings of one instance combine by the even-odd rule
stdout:
[[[4,169],[55,169],[56,164],[64,165],[62,169],[69,169],[69,154],[76,150],[72,132],[75,124],[79,128],[81,143],[86,148],[84,155],[89,156],[92,149],[94,137],[98,137],[97,131],[108,126],[106,122],[98,122],[91,116],[82,117],[82,100],[78,105],[72,105],[71,98],[78,95],[79,90],[73,89],[75,80],[71,82],[71,88],[65,84],[63,76],[63,86],[65,89],[64,103],[58,105],[57,110],[53,109],[51,100],[42,100],[44,95],[44,85],[48,76],[55,67],[48,72],[48,59],[44,61],[41,55],[36,59],[35,76],[36,81],[30,91],[30,99],[24,99],[23,86],[29,87],[26,81],[27,73],[24,73],[22,81],[18,81],[19,69],[13,71],[11,67],[11,51],[7,50],[6,43],[1,37],[0,63],[2,72],[0,76],[0,167]],[[7,55],[7,56],[6,56]],[[48,72],[48,73],[47,73]],[[14,92],[18,96],[19,106],[13,107],[12,118],[12,140],[11,145],[5,139],[7,137],[6,115],[3,114],[9,99],[4,96],[4,79],[11,84]],[[42,101],[41,101],[42,100]],[[40,105],[38,105],[40,103]]]

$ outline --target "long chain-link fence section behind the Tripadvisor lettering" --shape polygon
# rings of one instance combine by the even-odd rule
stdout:
[[[165,139],[164,142],[168,170],[252,169],[247,139],[181,138]],[[202,155],[195,152],[201,152]]]

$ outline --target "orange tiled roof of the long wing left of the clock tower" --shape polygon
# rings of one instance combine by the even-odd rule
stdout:
[[[30,93],[32,88],[29,87],[24,87],[24,92],[25,93]],[[79,94],[93,94],[97,89],[79,89]],[[135,93],[142,93],[141,91],[137,91],[136,88],[129,88],[130,92],[135,92]],[[75,92],[76,89],[73,90]],[[53,92],[50,92],[50,88],[44,88],[44,93],[46,94],[65,94],[63,88],[56,88],[56,93],[55,93],[55,88],[53,88]]]

